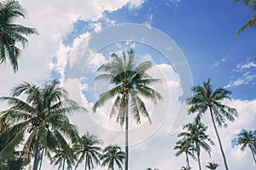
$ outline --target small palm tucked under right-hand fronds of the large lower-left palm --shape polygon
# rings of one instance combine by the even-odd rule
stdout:
[[[75,156],[73,154],[72,148],[68,144],[65,144],[64,147],[57,148],[54,150],[55,155],[50,158],[51,164],[54,166],[59,166],[58,168],[62,170],[72,169],[75,162]],[[67,164],[67,167],[66,167]]]

